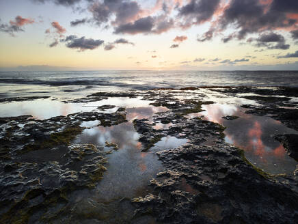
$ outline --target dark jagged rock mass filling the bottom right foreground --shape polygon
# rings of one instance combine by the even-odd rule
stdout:
[[[260,175],[239,149],[185,145],[158,152],[167,169],[135,198],[136,215],[162,223],[295,223],[297,187]]]

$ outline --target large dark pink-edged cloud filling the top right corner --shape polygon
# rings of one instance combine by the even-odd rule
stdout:
[[[232,0],[219,20],[219,29],[229,25],[239,29],[237,38],[243,39],[248,33],[293,27],[297,18],[289,13],[298,13],[297,0]]]

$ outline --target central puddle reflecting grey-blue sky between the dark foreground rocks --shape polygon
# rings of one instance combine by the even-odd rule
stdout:
[[[163,169],[156,154],[141,152],[139,134],[133,124],[126,122],[111,127],[96,126],[86,129],[76,143],[105,145],[105,141],[117,143],[119,150],[108,154],[107,171],[96,188],[96,201],[108,202],[122,197],[133,198],[149,191],[148,183]],[[105,150],[111,148],[105,147]]]

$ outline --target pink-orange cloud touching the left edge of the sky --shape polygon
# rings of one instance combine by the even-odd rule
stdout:
[[[10,36],[14,36],[14,33],[25,31],[22,27],[28,24],[35,23],[31,18],[23,18],[22,16],[16,16],[14,20],[10,20],[10,24],[0,24],[0,31],[9,33]]]

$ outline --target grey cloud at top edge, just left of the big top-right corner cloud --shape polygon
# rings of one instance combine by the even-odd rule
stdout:
[[[182,26],[200,24],[210,19],[217,10],[219,2],[220,0],[191,0],[178,10],[178,16],[185,22]]]

